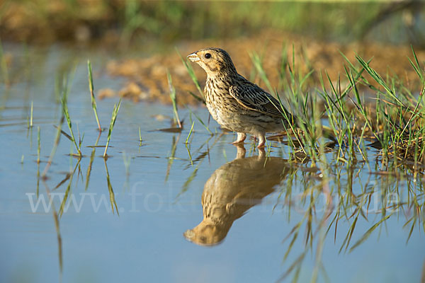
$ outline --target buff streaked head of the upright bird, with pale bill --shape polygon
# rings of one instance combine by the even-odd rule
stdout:
[[[217,76],[217,74],[233,74],[236,68],[230,58],[229,53],[220,48],[205,48],[188,55],[191,62],[196,62],[208,74],[208,76]]]

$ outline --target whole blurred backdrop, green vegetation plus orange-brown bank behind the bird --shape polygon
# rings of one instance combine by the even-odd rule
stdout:
[[[293,51],[305,74],[314,70],[313,85],[320,83],[322,71],[333,79],[344,74],[346,61],[340,52],[351,62],[356,54],[373,58],[381,74],[390,68],[398,77],[419,83],[407,57],[412,45],[418,58],[425,59],[424,30],[424,3],[412,0],[6,0],[0,8],[0,37],[8,44],[2,65],[9,72],[16,63],[16,54],[10,52],[16,44],[24,53],[28,46],[47,47],[47,53],[52,46],[67,48],[65,54],[75,53],[74,59],[91,50],[103,58],[101,69],[127,79],[119,90],[101,90],[98,97],[161,103],[171,103],[164,96],[167,70],[181,93],[179,101],[198,103],[188,95],[197,90],[176,49],[186,55],[208,46],[227,50],[239,73],[263,87],[254,59],[278,86],[282,58],[291,62]],[[200,68],[194,71],[198,78],[205,76]]]

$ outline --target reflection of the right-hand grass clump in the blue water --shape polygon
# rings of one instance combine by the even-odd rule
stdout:
[[[295,242],[304,241],[305,250],[300,255],[295,256],[292,262],[288,262],[283,275],[278,281],[288,279],[289,275],[293,275],[293,281],[296,282],[302,264],[308,253],[313,253],[315,258],[315,267],[312,272],[312,282],[317,282],[318,277],[327,278],[326,270],[322,263],[322,251],[324,250],[324,239],[333,236],[334,242],[338,234],[341,234],[341,246],[339,252],[348,252],[355,250],[370,238],[373,232],[382,229],[387,220],[391,216],[405,216],[404,227],[409,226],[407,241],[414,227],[423,225],[424,212],[421,207],[424,206],[424,187],[422,183],[414,182],[411,178],[405,179],[407,182],[407,190],[399,190],[402,185],[401,180],[404,177],[391,174],[376,175],[380,182],[370,182],[370,176],[366,175],[366,182],[362,182],[361,176],[358,175],[365,166],[354,168],[356,163],[346,165],[345,161],[339,161],[335,158],[338,151],[331,152],[331,156],[322,157],[317,163],[322,174],[322,178],[317,180],[314,175],[317,173],[291,173],[285,178],[285,183],[280,187],[277,203],[273,207],[273,211],[282,205],[288,209],[288,221],[290,220],[290,211],[294,210],[294,205],[300,212],[302,209],[302,219],[293,225],[284,242],[287,243],[283,262],[286,263],[288,255],[294,253],[293,247]],[[325,156],[322,154],[321,156]],[[329,163],[329,161],[331,161]],[[351,161],[347,161],[351,162]],[[355,170],[356,169],[356,170]],[[404,170],[408,170],[405,168]],[[399,170],[399,169],[398,169]],[[306,171],[308,172],[308,171]],[[295,185],[297,184],[297,185]],[[354,184],[360,184],[360,188],[356,188]],[[294,192],[294,187],[300,187],[299,192]],[[406,192],[408,195],[404,195]],[[297,198],[294,196],[297,196]],[[324,199],[323,199],[324,197]],[[325,200],[325,202],[323,202]],[[376,217],[373,217],[373,214]],[[276,212],[275,212],[276,213]],[[363,232],[356,241],[353,241],[354,231],[358,226],[363,225],[361,219],[365,221],[373,221],[370,228]],[[378,219],[374,219],[378,218]],[[339,228],[339,223],[343,222],[348,226],[346,231]],[[340,224],[341,225],[341,224]],[[382,226],[384,225],[384,226]],[[305,236],[300,239],[302,227],[305,227]],[[345,236],[344,236],[345,235]]]

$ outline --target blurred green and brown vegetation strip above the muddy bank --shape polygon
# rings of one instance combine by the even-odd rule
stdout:
[[[280,30],[317,40],[425,47],[422,1],[6,0],[2,40],[126,47]]]

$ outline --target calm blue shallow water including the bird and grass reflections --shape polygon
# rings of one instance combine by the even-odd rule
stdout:
[[[289,161],[292,150],[276,141],[261,153],[249,140],[244,154],[229,144],[234,134],[222,134],[215,121],[210,120],[216,133],[210,136],[196,117],[180,109],[186,124],[181,134],[161,132],[157,129],[171,127],[170,122],[154,116],[172,116],[171,107],[123,100],[104,161],[103,147],[88,147],[96,144],[98,131],[86,59],[94,66],[96,89],[118,89],[121,79],[103,71],[106,54],[65,47],[6,46],[6,51],[22,67],[11,70],[11,88],[0,85],[0,282],[276,282],[294,277],[306,282],[316,274],[319,282],[419,282],[424,276],[422,177],[402,168],[375,174],[385,170],[377,162],[378,151],[367,148],[367,162],[358,154],[360,162],[353,166],[336,162],[331,151],[325,155],[329,168]],[[42,180],[38,175],[52,151],[53,125],[62,111],[55,76],[60,70],[72,73],[72,66],[77,68],[68,107],[75,132],[78,125],[84,134],[84,157],[69,156],[76,149],[62,135]],[[31,102],[33,127],[28,129]],[[98,100],[103,127],[117,102]],[[192,111],[208,121],[205,108]],[[191,119],[194,131],[186,146]],[[69,133],[66,122],[62,129]],[[105,145],[106,137],[102,132],[98,145]],[[54,216],[65,192],[57,229]]]

